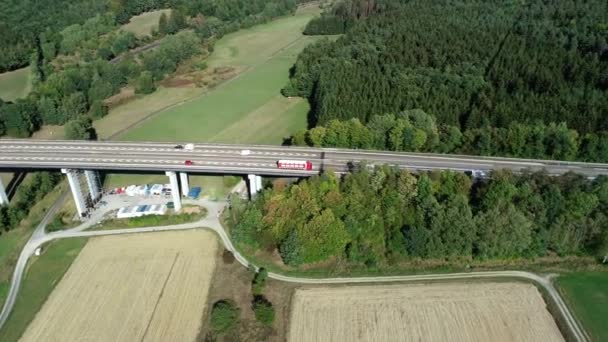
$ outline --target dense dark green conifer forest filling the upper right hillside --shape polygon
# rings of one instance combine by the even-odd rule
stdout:
[[[355,21],[337,41],[305,49],[284,89],[309,98],[313,125],[422,109],[461,130],[608,130],[606,1],[344,3],[365,11],[334,8],[311,22],[311,33],[333,34],[341,18]]]

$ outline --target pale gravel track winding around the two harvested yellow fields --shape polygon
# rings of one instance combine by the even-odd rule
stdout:
[[[65,195],[64,195],[65,196]],[[44,243],[50,242],[56,239],[71,238],[71,237],[94,237],[102,235],[116,235],[116,234],[135,234],[135,233],[148,233],[158,231],[170,231],[170,230],[184,230],[184,229],[209,229],[214,231],[221,239],[224,247],[232,252],[235,259],[245,267],[252,265],[243,255],[232,244],[228,234],[221,225],[218,214],[222,212],[227,202],[212,202],[212,201],[198,201],[198,204],[203,204],[207,208],[208,215],[196,222],[184,223],[179,225],[171,226],[157,226],[157,227],[145,227],[145,228],[129,228],[129,229],[115,229],[115,230],[100,230],[100,231],[85,231],[92,225],[98,222],[105,213],[112,208],[104,208],[94,213],[93,217],[82,225],[53,233],[45,233],[45,227],[51,220],[53,215],[63,204],[63,200],[59,200],[49,209],[44,219],[40,222],[32,237],[23,248],[13,278],[11,280],[11,287],[9,289],[7,300],[0,313],[0,328],[4,325],[9,317],[11,309],[15,304],[19,288],[21,286],[21,280],[27,265],[27,261],[34,251],[43,245]],[[257,268],[257,267],[256,267]],[[425,274],[425,275],[409,275],[409,276],[381,276],[381,277],[354,277],[354,278],[302,278],[302,277],[291,277],[278,273],[269,272],[268,276],[272,279],[290,282],[290,283],[301,283],[301,284],[352,284],[352,283],[386,283],[386,282],[412,282],[412,281],[433,281],[433,280],[460,280],[460,279],[483,279],[483,278],[517,278],[532,281],[539,287],[543,288],[548,295],[549,299],[555,304],[555,307],[562,316],[562,321],[567,325],[571,332],[572,337],[579,342],[588,341],[587,335],[580,328],[578,322],[570,312],[568,306],[561,298],[558,291],[553,286],[550,278],[542,277],[540,275],[524,272],[524,271],[495,271],[495,272],[469,272],[469,273],[447,273],[447,274]]]

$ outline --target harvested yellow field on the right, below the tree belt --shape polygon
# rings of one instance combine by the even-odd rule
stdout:
[[[288,341],[564,341],[521,283],[349,286],[294,294]]]

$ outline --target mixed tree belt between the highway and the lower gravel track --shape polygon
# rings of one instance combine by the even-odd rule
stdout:
[[[267,189],[252,202],[234,199],[231,234],[241,246],[276,248],[295,266],[603,256],[607,209],[607,177],[499,171],[474,182],[363,165]]]

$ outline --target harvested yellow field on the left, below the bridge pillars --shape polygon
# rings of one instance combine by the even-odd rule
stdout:
[[[201,230],[91,239],[21,341],[194,341],[216,250]]]

